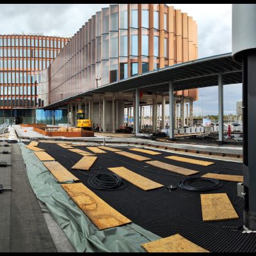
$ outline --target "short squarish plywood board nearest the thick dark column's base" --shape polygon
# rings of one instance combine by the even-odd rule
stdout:
[[[203,221],[239,218],[226,193],[201,194]]]

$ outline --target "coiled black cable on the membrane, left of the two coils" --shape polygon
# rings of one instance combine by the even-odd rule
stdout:
[[[92,188],[101,190],[116,190],[125,188],[126,184],[122,178],[114,173],[102,173],[91,176],[88,184]]]

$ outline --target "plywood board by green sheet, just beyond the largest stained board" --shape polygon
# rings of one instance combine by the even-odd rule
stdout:
[[[57,161],[43,162],[43,164],[59,182],[65,182],[67,180],[79,180]]]

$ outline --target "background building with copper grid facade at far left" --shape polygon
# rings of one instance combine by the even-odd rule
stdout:
[[[49,67],[68,40],[57,36],[0,35],[1,123],[35,122],[38,71]]]

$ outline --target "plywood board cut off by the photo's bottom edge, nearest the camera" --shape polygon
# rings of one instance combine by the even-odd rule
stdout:
[[[180,234],[141,244],[141,246],[147,252],[209,252]]]

